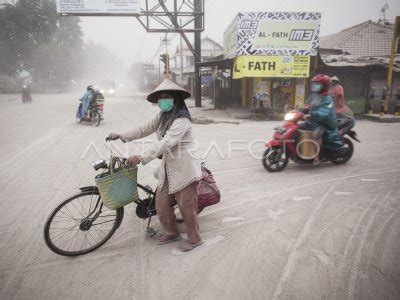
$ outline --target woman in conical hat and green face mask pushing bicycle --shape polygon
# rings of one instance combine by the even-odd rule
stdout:
[[[140,155],[127,159],[127,164],[147,164],[162,156],[158,176],[156,209],[164,234],[157,244],[164,245],[181,239],[173,205],[175,201],[183,216],[188,241],[182,251],[190,251],[202,244],[197,219],[197,182],[202,178],[201,160],[196,154],[191,116],[185,99],[190,93],[169,79],[165,79],[147,101],[157,103],[161,112],[151,121],[128,132],[110,133],[109,139],[124,143],[156,133],[158,141]]]

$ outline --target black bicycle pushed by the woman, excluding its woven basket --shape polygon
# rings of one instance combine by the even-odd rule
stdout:
[[[110,155],[109,163],[99,160],[92,164],[95,171],[103,170],[101,174],[110,172],[111,168],[115,170],[126,161],[126,158],[114,155],[108,142],[105,138],[104,144]],[[147,197],[136,202],[136,215],[141,219],[148,218],[146,233],[154,236],[156,231],[150,227],[150,222],[157,214],[156,191],[139,183],[137,186]],[[79,190],[79,194],[62,201],[45,223],[46,245],[59,255],[78,256],[98,249],[112,237],[124,217],[124,207],[111,210],[103,204],[97,186],[85,186]]]

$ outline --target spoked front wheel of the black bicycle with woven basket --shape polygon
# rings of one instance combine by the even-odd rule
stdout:
[[[59,255],[86,254],[111,238],[123,216],[124,208],[108,209],[98,191],[82,192],[60,203],[50,214],[44,240]]]

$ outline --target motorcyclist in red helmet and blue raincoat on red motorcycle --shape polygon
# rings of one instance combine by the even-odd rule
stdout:
[[[306,101],[308,109],[306,122],[302,126],[313,131],[313,139],[325,148],[336,148],[343,145],[339,135],[336,113],[332,97],[329,95],[330,77],[317,75],[311,82],[311,97]],[[318,156],[314,163],[319,163]]]

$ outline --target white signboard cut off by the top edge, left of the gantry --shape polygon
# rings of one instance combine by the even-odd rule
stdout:
[[[57,0],[57,12],[76,15],[139,14],[139,0]]]

